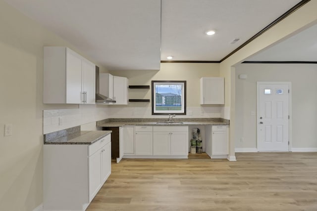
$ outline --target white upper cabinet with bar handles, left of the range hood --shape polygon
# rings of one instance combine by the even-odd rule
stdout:
[[[43,103],[95,104],[95,64],[67,47],[44,47]]]

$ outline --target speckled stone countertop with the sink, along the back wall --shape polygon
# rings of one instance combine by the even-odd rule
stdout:
[[[166,122],[166,118],[159,119],[106,119],[97,122],[97,127],[121,127],[121,126],[192,126],[192,125],[229,125],[229,120],[221,118],[175,118],[172,122],[182,123],[160,123]]]

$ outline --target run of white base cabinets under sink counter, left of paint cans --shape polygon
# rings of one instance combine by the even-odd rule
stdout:
[[[124,158],[188,157],[188,126],[134,126],[134,139],[132,130],[123,132]]]

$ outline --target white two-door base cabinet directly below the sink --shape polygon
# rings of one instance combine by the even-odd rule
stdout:
[[[188,127],[153,127],[153,155],[188,156]]]

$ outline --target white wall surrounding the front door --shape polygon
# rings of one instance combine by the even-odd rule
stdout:
[[[247,74],[246,80],[238,79]],[[257,147],[257,82],[292,83],[292,150],[317,150],[317,65],[239,64],[236,66],[235,148]],[[240,138],[243,137],[243,142]]]

